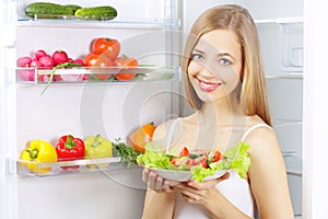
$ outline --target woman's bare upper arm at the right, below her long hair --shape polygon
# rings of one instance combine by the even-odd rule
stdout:
[[[293,219],[286,171],[272,129],[257,128],[246,142],[250,146],[248,176],[261,219]]]

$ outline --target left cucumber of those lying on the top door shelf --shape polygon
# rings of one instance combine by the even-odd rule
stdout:
[[[37,19],[58,19],[63,15],[74,15],[72,7],[50,2],[34,2],[25,8],[25,14]]]

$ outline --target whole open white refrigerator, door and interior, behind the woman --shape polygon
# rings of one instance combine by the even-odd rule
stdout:
[[[65,172],[57,163],[48,174],[31,174],[20,168],[19,151],[32,139],[55,143],[66,134],[125,140],[141,124],[189,114],[179,55],[195,19],[221,3],[244,5],[258,26],[273,128],[288,168],[295,218],[302,217],[303,1],[113,0],[109,4],[118,15],[108,22],[28,19],[23,9],[31,2],[35,1],[1,2],[0,218],[140,218],[145,189],[140,169],[110,160],[107,169],[90,170],[79,161],[79,171]],[[69,3],[93,7],[108,1]],[[85,56],[98,36],[118,38],[121,54],[138,58],[138,80],[54,82],[42,94],[47,83],[37,74],[43,72],[35,71],[34,81],[20,79],[17,57],[39,48]]]

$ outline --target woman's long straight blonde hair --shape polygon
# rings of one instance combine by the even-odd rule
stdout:
[[[271,125],[257,28],[248,11],[239,5],[226,4],[211,8],[192,25],[186,42],[181,66],[189,104],[194,110],[199,110],[202,105],[187,74],[191,53],[199,38],[214,30],[234,32],[241,45],[243,72],[239,103],[242,110],[246,115],[258,115]]]

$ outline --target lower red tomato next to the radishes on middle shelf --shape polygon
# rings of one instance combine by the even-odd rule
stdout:
[[[105,55],[89,54],[84,58],[84,64],[86,67],[113,67],[113,61]],[[96,73],[99,80],[106,80],[110,77],[110,73]]]

